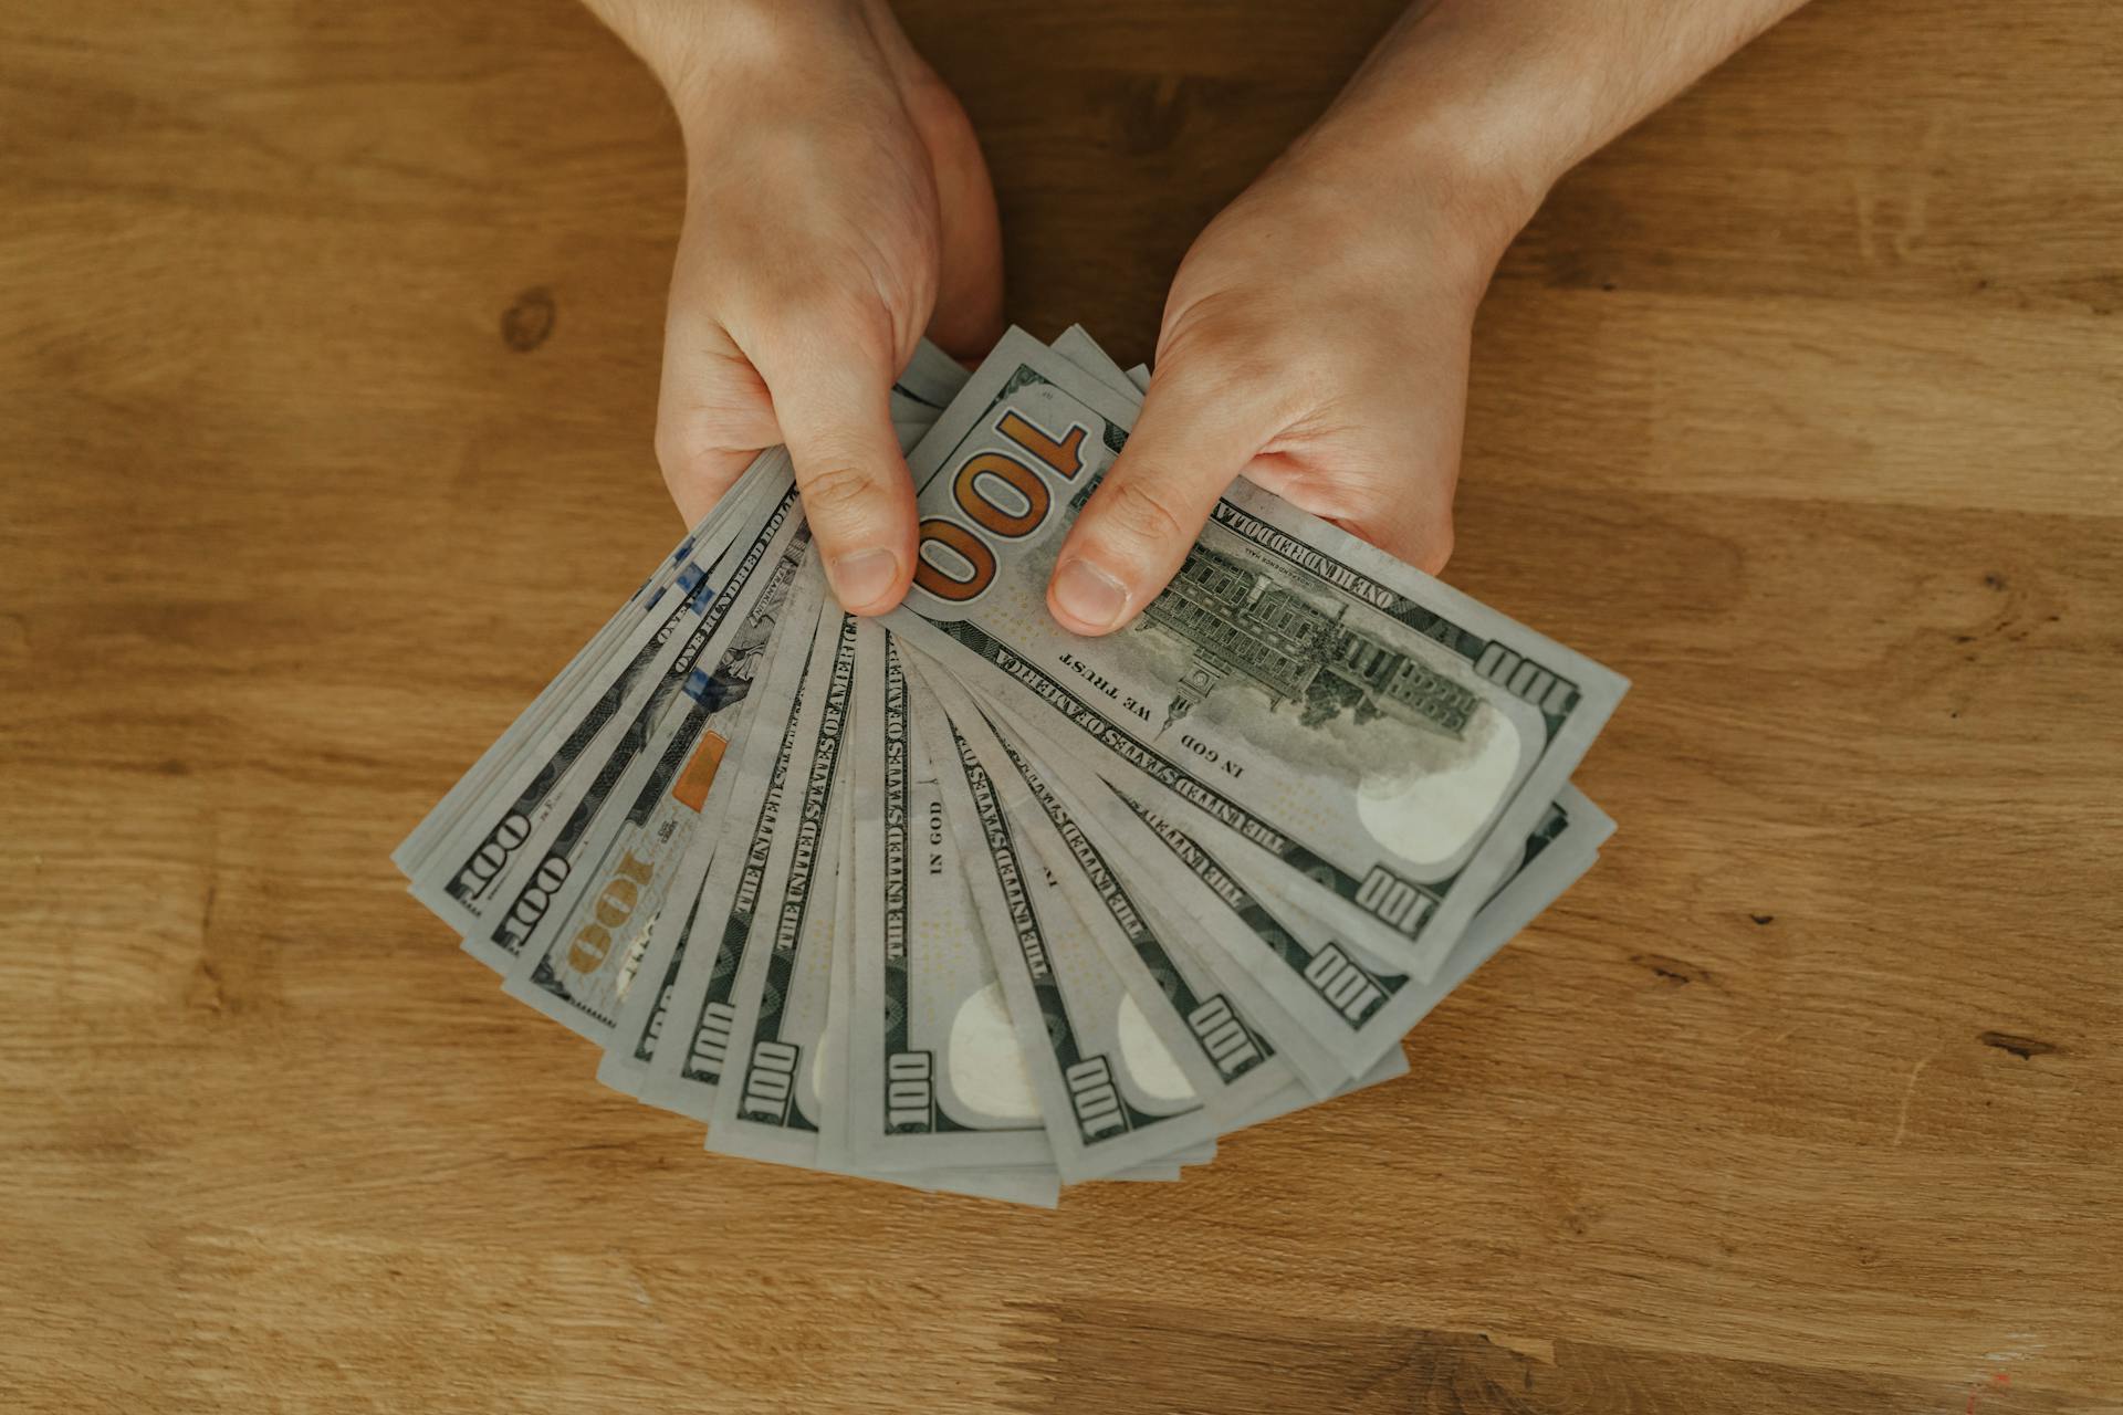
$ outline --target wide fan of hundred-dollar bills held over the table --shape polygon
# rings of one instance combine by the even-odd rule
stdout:
[[[1047,577],[1144,373],[1011,331],[892,390],[921,560],[841,613],[781,450],[399,846],[707,1148],[1053,1205],[1408,1069],[1596,857],[1624,679],[1238,484],[1106,639]]]

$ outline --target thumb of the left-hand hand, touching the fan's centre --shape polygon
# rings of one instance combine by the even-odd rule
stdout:
[[[760,369],[834,598],[885,613],[915,562],[915,488],[892,431],[892,369],[843,350]],[[875,365],[875,367],[873,367]]]

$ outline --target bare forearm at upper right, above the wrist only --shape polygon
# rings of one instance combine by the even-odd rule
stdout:
[[[1418,0],[1312,138],[1446,165],[1505,240],[1573,165],[1805,0]]]

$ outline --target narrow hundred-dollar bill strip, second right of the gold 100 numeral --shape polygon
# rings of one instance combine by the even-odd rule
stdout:
[[[802,677],[779,698],[786,709],[766,696],[760,700],[758,721],[769,730],[754,736],[769,751],[752,751],[747,745],[724,815],[737,829],[749,821],[749,838],[737,836],[730,844],[743,842],[743,849],[718,851],[709,863],[694,938],[671,989],[667,1035],[658,1040],[641,1090],[643,1101],[696,1120],[711,1120],[715,1114],[715,1088],[730,1061],[730,1031],[737,1023],[735,984],[745,957],[752,948],[773,946],[798,849],[817,844],[817,823],[807,813],[813,796],[830,789],[853,681],[853,632],[843,632],[845,615],[828,598],[813,556],[790,596],[790,624],[809,624],[811,632],[783,647],[783,658],[802,658]],[[775,721],[788,721],[781,743],[773,740]],[[796,810],[794,819],[790,808]]]

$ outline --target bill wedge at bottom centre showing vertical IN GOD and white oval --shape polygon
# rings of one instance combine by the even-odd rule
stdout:
[[[856,626],[849,1160],[1053,1165],[898,647]]]

